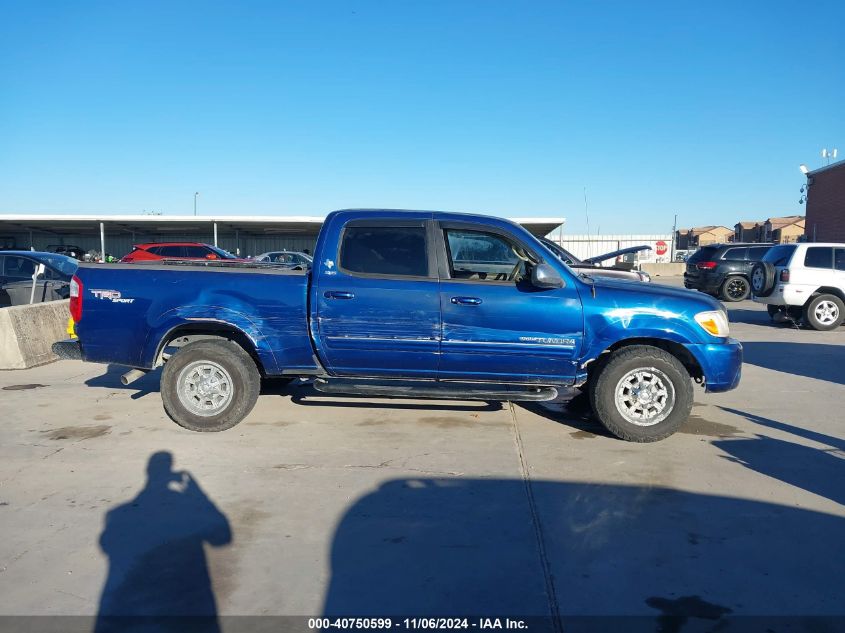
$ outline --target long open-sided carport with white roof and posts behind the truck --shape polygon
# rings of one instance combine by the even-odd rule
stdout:
[[[133,244],[203,242],[246,257],[268,251],[314,252],[321,216],[0,215],[0,249],[83,252],[120,258]],[[564,218],[513,218],[542,237]]]

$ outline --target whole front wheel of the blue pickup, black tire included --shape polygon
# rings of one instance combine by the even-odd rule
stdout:
[[[647,401],[632,398],[625,404],[632,387],[643,383],[652,390],[661,389],[663,398],[655,398],[652,393]],[[692,379],[681,361],[669,352],[650,345],[632,345],[613,352],[597,368],[589,395],[593,413],[613,435],[629,442],[657,442],[672,435],[689,417]],[[637,408],[654,421],[633,421]]]

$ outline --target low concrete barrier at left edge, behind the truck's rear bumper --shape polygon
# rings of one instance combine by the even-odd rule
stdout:
[[[27,369],[56,360],[51,347],[68,337],[69,303],[66,299],[0,308],[0,369]]]

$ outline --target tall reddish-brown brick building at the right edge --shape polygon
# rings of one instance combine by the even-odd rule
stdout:
[[[845,242],[845,160],[807,172],[805,234],[811,242]]]

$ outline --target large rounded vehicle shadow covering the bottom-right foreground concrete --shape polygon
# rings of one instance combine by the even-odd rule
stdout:
[[[692,619],[747,630],[729,614],[841,616],[843,537],[841,516],[661,487],[398,479],[338,524],[324,614],[639,615],[644,628],[614,630]]]

